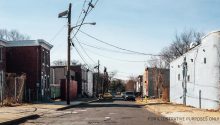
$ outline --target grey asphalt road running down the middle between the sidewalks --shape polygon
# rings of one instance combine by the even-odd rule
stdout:
[[[160,118],[156,119],[156,118]],[[63,111],[43,114],[22,125],[175,125],[143,108],[119,99],[100,100]]]

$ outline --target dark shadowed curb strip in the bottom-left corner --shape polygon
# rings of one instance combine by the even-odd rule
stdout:
[[[2,122],[2,123],[0,123],[0,125],[17,125],[17,124],[23,123],[27,120],[37,119],[39,117],[40,117],[40,115],[38,115],[38,114],[28,115],[28,116],[21,117],[21,118],[18,118],[18,119],[13,119],[13,120],[10,120],[10,121]]]

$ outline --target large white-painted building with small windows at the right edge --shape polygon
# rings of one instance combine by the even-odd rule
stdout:
[[[220,108],[220,31],[170,63],[170,101],[183,103],[183,61],[186,58],[186,105]],[[201,100],[200,100],[201,98]]]

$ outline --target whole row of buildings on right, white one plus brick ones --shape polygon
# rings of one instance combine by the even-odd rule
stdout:
[[[173,60],[170,69],[146,68],[136,83],[143,96],[203,109],[220,108],[220,31]]]

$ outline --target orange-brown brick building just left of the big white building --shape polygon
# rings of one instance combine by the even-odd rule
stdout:
[[[143,95],[168,100],[169,74],[169,69],[146,68],[143,75]]]

